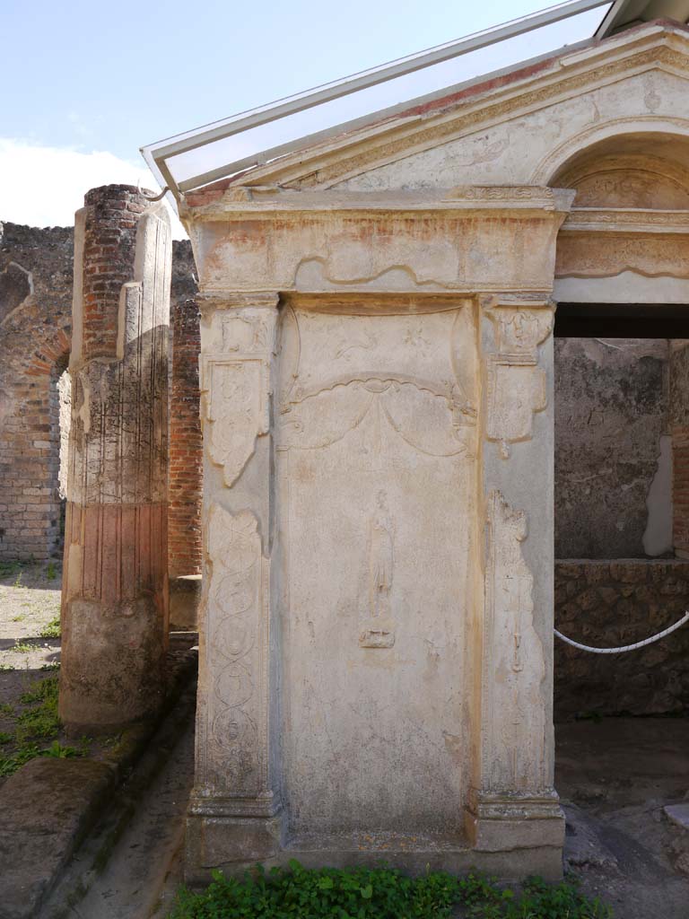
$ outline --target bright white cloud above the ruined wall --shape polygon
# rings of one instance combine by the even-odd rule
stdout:
[[[82,153],[68,147],[44,147],[0,138],[0,221],[28,226],[71,226],[85,193],[100,185],[154,188],[146,165],[129,163],[113,153]],[[186,233],[173,214],[173,235]]]

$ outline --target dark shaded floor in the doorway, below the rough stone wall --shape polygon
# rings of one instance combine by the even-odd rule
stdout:
[[[556,788],[582,888],[619,919],[689,919],[689,831],[665,815],[689,799],[689,718],[560,725]]]

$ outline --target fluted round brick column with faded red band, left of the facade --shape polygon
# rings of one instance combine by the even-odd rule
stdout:
[[[163,693],[170,221],[134,188],[95,188],[74,242],[60,716],[97,731]]]

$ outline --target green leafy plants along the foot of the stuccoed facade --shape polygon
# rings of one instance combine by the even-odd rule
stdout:
[[[243,879],[213,872],[206,891],[181,888],[170,919],[443,919],[456,905],[476,919],[609,919],[610,907],[589,901],[571,880],[550,886],[528,880],[520,893],[491,879],[429,872],[412,879],[391,868],[262,866]]]

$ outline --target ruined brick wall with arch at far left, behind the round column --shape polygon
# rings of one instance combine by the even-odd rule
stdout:
[[[72,229],[0,224],[0,559],[47,559],[60,543],[72,255]]]

